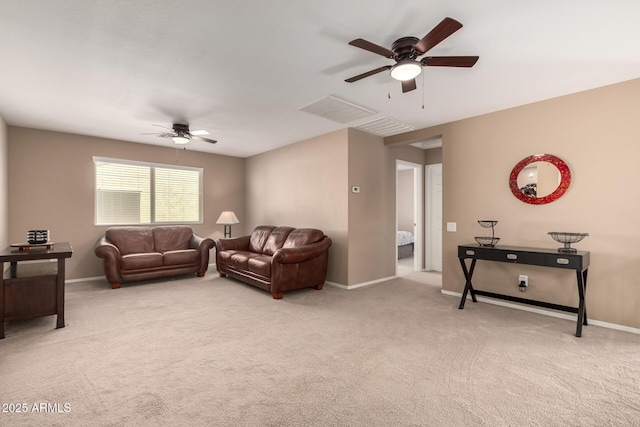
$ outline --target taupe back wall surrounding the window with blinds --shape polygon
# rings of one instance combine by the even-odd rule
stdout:
[[[42,228],[54,241],[71,242],[67,279],[104,275],[93,252],[107,228],[94,225],[93,156],[202,167],[204,223],[192,228],[222,237],[223,226],[215,221],[221,211],[233,210],[241,221],[234,235],[243,231],[244,159],[12,126],[8,140],[9,239],[24,241],[27,230]]]

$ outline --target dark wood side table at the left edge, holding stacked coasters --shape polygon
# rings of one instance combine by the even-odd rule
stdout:
[[[0,338],[7,320],[57,314],[56,328],[64,328],[64,267],[72,253],[68,242],[29,250],[8,247],[0,252]],[[10,263],[7,271],[6,262]]]

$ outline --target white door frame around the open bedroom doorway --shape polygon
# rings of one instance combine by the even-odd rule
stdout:
[[[407,162],[396,159],[396,233],[398,232],[398,170],[400,167],[413,169],[413,269],[422,271],[423,266],[423,241],[424,241],[424,181],[423,166],[419,163]],[[398,274],[398,245],[395,250],[396,275]]]

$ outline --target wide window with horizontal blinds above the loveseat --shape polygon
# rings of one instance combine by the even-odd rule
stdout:
[[[202,223],[202,168],[94,157],[96,225]]]

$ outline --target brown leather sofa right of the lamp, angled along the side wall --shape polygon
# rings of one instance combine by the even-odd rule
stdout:
[[[250,236],[216,241],[216,268],[281,299],[294,289],[322,289],[331,239],[315,228],[256,227]]]

